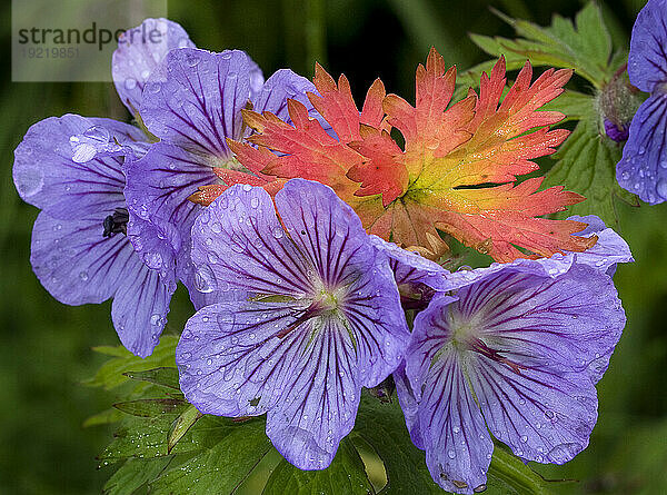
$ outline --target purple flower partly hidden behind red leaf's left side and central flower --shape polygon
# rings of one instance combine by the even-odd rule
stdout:
[[[239,50],[172,50],[147,81],[140,113],[160,142],[129,166],[126,197],[130,209],[149,221],[160,239],[145,229],[130,228],[129,236],[137,249],[160,255],[170,277],[186,284],[197,307],[205,296],[196,290],[190,228],[202,207],[188,198],[201,186],[220,184],[216,168],[250,174],[227,146],[227,139],[249,133],[242,123],[243,108],[287,119],[287,98],[312,108],[307,91],[315,91],[315,86],[287,69],[265,82],[257,65]]]

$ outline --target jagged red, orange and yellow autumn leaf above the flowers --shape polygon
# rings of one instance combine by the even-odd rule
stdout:
[[[369,232],[405,246],[429,246],[438,228],[499,261],[580,251],[595,242],[573,236],[583,224],[538,217],[584,198],[563,187],[539,191],[541,179],[514,184],[538,168],[532,159],[554,152],[567,137],[568,131],[548,127],[561,113],[538,109],[563,92],[570,76],[570,70],[551,69],[531,82],[526,63],[502,98],[500,59],[490,76],[482,76],[479,95],[470,90],[450,105],[456,70],[446,70],[431,49],[426,67],[417,69],[415,106],[396,95],[385,97],[376,81],[359,112],[348,80],[341,76],[336,85],[317,66],[319,96],[309,98],[338,139],[302,105],[290,102],[291,126],[270,113],[245,112],[258,132],[248,140],[259,149],[241,143],[232,149],[250,170],[331,186]],[[391,139],[390,127],[402,133],[405,149]]]

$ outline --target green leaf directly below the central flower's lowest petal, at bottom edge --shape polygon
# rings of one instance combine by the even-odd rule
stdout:
[[[300,471],[280,461],[262,495],[374,494],[364,462],[352,443],[344,438],[331,465],[322,471]]]

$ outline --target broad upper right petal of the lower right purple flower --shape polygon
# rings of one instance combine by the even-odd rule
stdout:
[[[576,265],[555,279],[508,267],[457,293],[458,321],[520,366],[581,372],[599,380],[625,326],[609,277]]]

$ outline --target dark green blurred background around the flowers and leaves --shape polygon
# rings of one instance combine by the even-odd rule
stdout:
[[[600,2],[619,44],[627,44],[641,0]],[[511,37],[488,9],[549,23],[571,17],[570,0],[170,0],[169,17],[201,48],[241,48],[265,75],[281,67],[311,77],[317,58],[345,72],[360,98],[376,77],[408,100],[415,67],[435,44],[460,69],[485,60],[467,32]],[[10,65],[10,6],[3,2],[3,66]],[[315,19],[315,21],[313,21]],[[320,19],[320,21],[317,21]],[[112,428],[82,428],[109,407],[111,394],[80,385],[102,357],[91,346],[116,345],[109,304],[67,307],[39,285],[29,264],[37,210],[17,196],[13,148],[28,127],[76,112],[127,119],[110,83],[12,83],[0,100],[0,494],[100,493],[108,469],[94,461]],[[575,478],[558,493],[667,493],[667,205],[620,207],[621,231],[637,263],[620,267],[616,283],[628,315],[625,335],[598,389],[600,419],[590,447],[566,466],[541,468]],[[190,311],[179,290],[167,331],[179,333]]]

